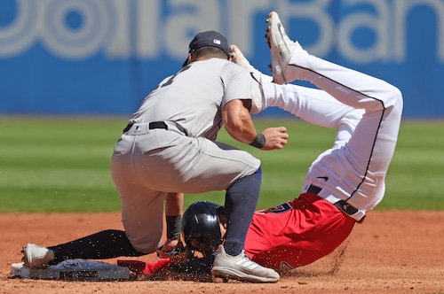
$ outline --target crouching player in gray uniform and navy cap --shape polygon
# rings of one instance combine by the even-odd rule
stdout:
[[[189,45],[188,62],[144,99],[115,144],[111,164],[125,236],[105,231],[92,238],[107,246],[123,244],[126,256],[155,252],[162,240],[164,203],[168,244],[180,237],[182,193],[226,190],[226,242],[218,248],[212,274],[276,282],[280,276],[273,269],[250,261],[243,251],[258,203],[260,161],[214,140],[224,125],[234,139],[269,151],[281,149],[288,134],[283,127],[256,131],[250,118],[250,74],[230,58],[223,35],[199,33]],[[23,249],[25,264],[45,266],[53,261],[54,251],[57,248],[48,251],[28,244]],[[91,253],[97,254],[114,253]]]

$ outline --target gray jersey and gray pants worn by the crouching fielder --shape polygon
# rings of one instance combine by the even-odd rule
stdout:
[[[226,59],[194,61],[163,80],[134,113],[111,164],[134,248],[151,253],[160,244],[167,192],[226,190],[258,170],[260,160],[250,153],[214,141],[223,106],[250,99],[250,80]],[[168,128],[149,128],[161,121]]]

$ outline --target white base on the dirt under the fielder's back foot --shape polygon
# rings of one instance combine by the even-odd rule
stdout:
[[[130,269],[94,260],[68,259],[47,268],[28,268],[24,262],[13,263],[11,274],[42,280],[127,280],[130,278]]]

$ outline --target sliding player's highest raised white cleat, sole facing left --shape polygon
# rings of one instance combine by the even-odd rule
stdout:
[[[295,43],[285,34],[281,19],[276,12],[270,12],[266,19],[266,43],[272,53],[272,64],[270,68],[273,73],[274,82],[283,84],[289,82],[285,74],[289,66],[289,58],[295,50]]]

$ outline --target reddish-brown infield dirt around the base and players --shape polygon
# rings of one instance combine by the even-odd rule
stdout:
[[[20,261],[22,245],[60,244],[101,229],[121,229],[120,214],[4,213],[0,223],[0,293],[444,293],[444,212],[369,213],[337,251],[272,284],[12,278],[10,266]]]

